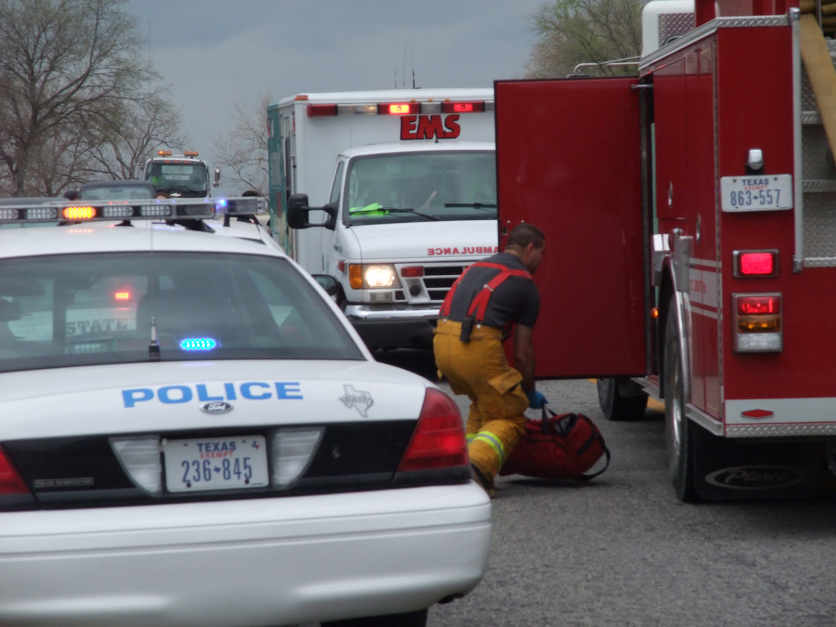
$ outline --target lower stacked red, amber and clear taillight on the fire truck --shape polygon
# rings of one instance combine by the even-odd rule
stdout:
[[[732,294],[735,353],[783,350],[781,294]]]

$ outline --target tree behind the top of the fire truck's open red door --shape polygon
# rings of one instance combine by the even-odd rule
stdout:
[[[554,0],[533,15],[539,40],[527,64],[531,78],[571,74],[578,64],[633,59],[641,52],[646,0]],[[633,74],[635,66],[600,65],[596,74]]]

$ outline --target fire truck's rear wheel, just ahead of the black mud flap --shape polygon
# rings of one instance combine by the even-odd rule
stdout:
[[[697,500],[695,488],[694,425],[685,415],[676,303],[671,298],[665,324],[665,441],[670,462],[670,481],[682,502]]]

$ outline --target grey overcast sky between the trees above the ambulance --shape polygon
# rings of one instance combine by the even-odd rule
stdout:
[[[519,78],[545,0],[129,0],[182,130],[212,161],[258,94],[492,87]],[[405,70],[405,71],[404,71]]]

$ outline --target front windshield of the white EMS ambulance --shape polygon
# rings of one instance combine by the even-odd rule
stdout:
[[[496,179],[490,151],[359,157],[347,177],[344,222],[495,220]]]

